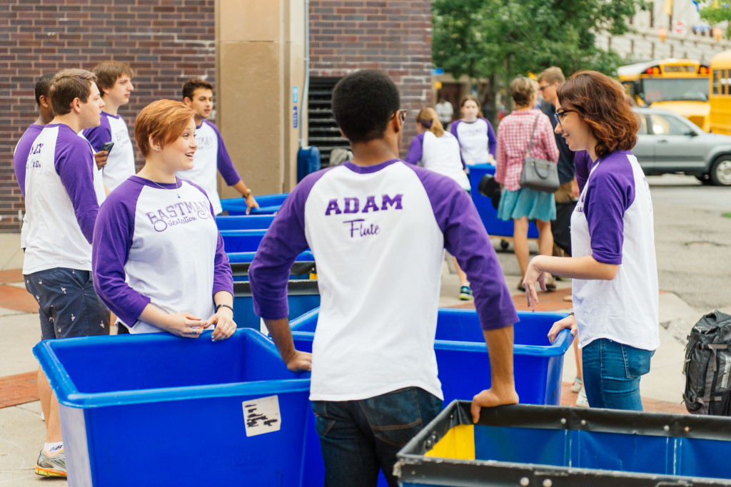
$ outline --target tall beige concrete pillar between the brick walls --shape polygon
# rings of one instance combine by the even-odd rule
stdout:
[[[303,15],[303,0],[216,1],[216,122],[254,196],[297,182]],[[219,188],[223,198],[239,196],[220,177]]]

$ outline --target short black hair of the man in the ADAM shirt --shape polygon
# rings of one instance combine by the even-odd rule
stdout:
[[[363,69],[338,81],[333,89],[333,116],[350,142],[383,137],[388,120],[401,107],[398,88],[376,69]]]

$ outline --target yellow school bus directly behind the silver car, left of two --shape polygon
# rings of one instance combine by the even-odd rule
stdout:
[[[708,64],[692,59],[659,59],[621,66],[617,72],[626,93],[640,107],[670,110],[705,131],[711,130]]]

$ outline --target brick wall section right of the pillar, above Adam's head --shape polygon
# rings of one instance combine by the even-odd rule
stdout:
[[[342,77],[382,69],[409,109],[401,156],[431,99],[430,0],[310,0],[310,76]]]

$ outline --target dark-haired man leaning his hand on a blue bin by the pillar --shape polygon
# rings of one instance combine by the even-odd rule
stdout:
[[[195,111],[195,138],[198,150],[195,153],[193,169],[179,172],[178,176],[199,185],[213,204],[213,212],[223,211],[219,197],[218,173],[221,172],[227,185],[232,186],[246,199],[246,214],[251,208],[258,208],[257,200],[251,194],[233,166],[218,127],[205,120],[213,111],[213,85],[206,80],[194,78],[183,85],[183,103]]]

